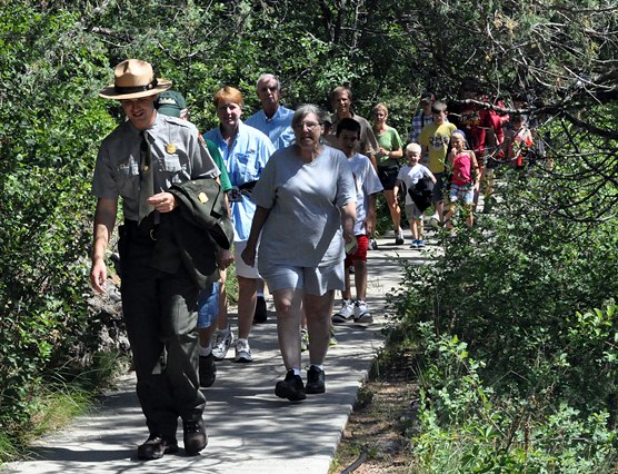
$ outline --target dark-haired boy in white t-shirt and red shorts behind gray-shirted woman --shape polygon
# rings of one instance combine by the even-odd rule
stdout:
[[[345,323],[353,317],[355,323],[371,323],[373,317],[365,300],[367,296],[367,248],[376,227],[376,198],[382,191],[380,178],[369,158],[356,151],[360,139],[360,125],[350,118],[337,124],[339,149],[348,157],[357,190],[355,237],[357,245],[346,256],[346,289],[341,309],[332,316],[333,323]],[[352,303],[350,267],[355,268],[357,300]]]

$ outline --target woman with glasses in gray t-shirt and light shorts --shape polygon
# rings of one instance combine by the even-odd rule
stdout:
[[[257,205],[242,259],[256,264],[275,299],[286,378],[275,394],[289,401],[325,392],[322,367],[336,289],[343,289],[345,243],[353,235],[356,189],[346,156],[321,144],[320,110],[297,109],[296,140],[269,159],[251,195]],[[260,237],[261,233],[261,237]],[[300,376],[300,319],[307,315],[307,385]]]

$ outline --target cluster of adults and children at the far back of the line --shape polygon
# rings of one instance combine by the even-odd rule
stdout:
[[[472,227],[480,195],[484,211],[495,203],[494,170],[500,165],[521,168],[532,146],[526,117],[509,117],[486,107],[489,98],[475,80],[464,81],[460,97],[448,110],[445,102],[427,92],[412,118],[406,148],[408,165],[399,169],[393,192],[397,196],[402,190],[406,195],[411,248],[425,246],[422,216],[430,206],[435,209],[431,217],[446,229],[455,228],[458,210]],[[504,109],[504,103],[498,105]]]

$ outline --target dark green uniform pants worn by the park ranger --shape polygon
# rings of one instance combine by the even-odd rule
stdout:
[[[152,268],[154,240],[133,223],[120,228],[122,312],[137,373],[137,394],[151,434],[176,438],[178,417],[201,418],[197,302],[199,288],[182,266]]]

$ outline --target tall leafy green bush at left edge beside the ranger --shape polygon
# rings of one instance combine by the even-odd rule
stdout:
[[[4,14],[7,13],[7,14]],[[4,2],[0,69],[0,426],[30,419],[52,361],[88,330],[84,257],[96,144],[112,125],[91,93],[101,48],[78,14]]]

